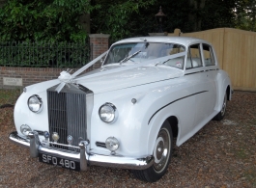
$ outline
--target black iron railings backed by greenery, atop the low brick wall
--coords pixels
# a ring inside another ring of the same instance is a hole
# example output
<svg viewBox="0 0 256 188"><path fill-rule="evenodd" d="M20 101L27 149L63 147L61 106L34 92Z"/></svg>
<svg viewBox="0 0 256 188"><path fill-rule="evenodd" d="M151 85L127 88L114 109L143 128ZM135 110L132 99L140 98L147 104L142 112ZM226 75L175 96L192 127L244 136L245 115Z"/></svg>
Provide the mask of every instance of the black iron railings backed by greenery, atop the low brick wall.
<svg viewBox="0 0 256 188"><path fill-rule="evenodd" d="M82 67L89 60L87 42L0 42L0 66Z"/></svg>

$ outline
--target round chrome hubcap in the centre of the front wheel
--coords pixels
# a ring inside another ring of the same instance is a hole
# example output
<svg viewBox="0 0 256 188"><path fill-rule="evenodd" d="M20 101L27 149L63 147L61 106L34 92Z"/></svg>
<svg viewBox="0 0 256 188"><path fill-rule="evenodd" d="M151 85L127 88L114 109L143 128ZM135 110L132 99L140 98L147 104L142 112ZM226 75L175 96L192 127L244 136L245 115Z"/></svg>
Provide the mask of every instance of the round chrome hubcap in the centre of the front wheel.
<svg viewBox="0 0 256 188"><path fill-rule="evenodd" d="M158 173L160 173L166 166L170 154L170 144L170 135L168 131L165 128L161 129L158 133L154 148L154 168Z"/></svg>

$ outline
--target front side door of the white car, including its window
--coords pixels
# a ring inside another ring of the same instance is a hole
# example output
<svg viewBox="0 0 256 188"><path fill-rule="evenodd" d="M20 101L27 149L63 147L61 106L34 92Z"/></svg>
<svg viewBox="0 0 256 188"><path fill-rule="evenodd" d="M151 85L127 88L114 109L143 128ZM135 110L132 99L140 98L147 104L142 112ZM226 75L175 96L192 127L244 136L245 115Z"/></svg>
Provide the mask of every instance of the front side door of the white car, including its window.
<svg viewBox="0 0 256 188"><path fill-rule="evenodd" d="M194 129L196 126L202 126L214 108L214 96L213 91L215 87L209 76L209 71L206 71L206 67L203 64L202 56L202 44L196 43L188 47L185 76L190 81L192 80L195 91L195 119L193 122Z"/></svg>

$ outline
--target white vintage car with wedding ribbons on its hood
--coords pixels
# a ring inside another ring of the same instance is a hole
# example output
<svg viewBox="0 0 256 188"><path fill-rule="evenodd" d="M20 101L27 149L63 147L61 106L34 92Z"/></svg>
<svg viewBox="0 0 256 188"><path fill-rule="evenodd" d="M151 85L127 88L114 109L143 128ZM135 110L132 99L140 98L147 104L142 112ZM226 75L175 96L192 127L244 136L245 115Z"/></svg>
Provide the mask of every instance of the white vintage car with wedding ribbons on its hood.
<svg viewBox="0 0 256 188"><path fill-rule="evenodd" d="M9 138L43 163L129 169L153 182L168 168L173 137L179 147L208 121L222 120L231 96L209 42L120 40L76 72L24 88Z"/></svg>

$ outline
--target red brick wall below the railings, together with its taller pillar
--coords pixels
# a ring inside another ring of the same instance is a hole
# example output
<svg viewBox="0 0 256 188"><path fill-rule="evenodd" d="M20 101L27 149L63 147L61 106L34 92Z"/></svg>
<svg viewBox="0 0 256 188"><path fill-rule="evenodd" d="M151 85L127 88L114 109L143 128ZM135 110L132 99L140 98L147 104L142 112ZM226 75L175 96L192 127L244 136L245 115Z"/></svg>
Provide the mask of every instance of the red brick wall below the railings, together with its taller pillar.
<svg viewBox="0 0 256 188"><path fill-rule="evenodd" d="M90 35L92 45L92 58L97 58L101 53L108 49L109 35L93 34ZM90 67L87 71L100 67L100 64ZM72 68L72 72L78 68ZM23 88L35 83L58 78L60 72L65 68L55 67L0 67L0 89ZM22 86L7 86L3 83L3 77L22 78Z"/></svg>

